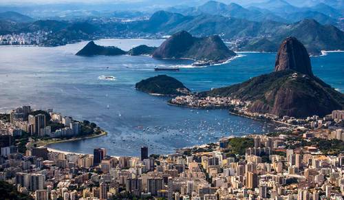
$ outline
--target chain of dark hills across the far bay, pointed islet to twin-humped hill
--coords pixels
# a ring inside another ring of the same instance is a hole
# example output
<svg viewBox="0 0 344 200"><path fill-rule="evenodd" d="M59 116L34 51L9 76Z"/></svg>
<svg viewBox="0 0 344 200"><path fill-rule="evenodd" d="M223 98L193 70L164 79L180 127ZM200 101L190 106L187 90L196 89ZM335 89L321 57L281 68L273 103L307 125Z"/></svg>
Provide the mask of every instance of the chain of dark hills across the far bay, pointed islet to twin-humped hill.
<svg viewBox="0 0 344 200"><path fill-rule="evenodd" d="M76 56L118 56L123 54L131 56L150 55L158 59L191 59L195 60L195 63L193 63L195 66L224 63L237 55L228 49L217 35L197 38L189 34L189 32L181 31L173 34L160 47L139 45L128 52L118 47L96 45L94 41L90 41L76 53Z"/></svg>

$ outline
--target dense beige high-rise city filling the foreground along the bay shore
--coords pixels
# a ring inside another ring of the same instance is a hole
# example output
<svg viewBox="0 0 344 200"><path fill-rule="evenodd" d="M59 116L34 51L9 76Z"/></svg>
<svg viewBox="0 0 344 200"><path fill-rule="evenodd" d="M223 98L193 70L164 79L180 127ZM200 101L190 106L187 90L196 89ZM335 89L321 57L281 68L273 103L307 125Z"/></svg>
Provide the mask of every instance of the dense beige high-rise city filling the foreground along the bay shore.
<svg viewBox="0 0 344 200"><path fill-rule="evenodd" d="M93 155L37 146L39 139L78 137L89 123L52 110L24 106L1 117L0 179L27 198L315 200L344 194L344 111L312 116L290 131L222 137L171 155L149 155L143 146L140 157L110 156L101 146Z"/></svg>

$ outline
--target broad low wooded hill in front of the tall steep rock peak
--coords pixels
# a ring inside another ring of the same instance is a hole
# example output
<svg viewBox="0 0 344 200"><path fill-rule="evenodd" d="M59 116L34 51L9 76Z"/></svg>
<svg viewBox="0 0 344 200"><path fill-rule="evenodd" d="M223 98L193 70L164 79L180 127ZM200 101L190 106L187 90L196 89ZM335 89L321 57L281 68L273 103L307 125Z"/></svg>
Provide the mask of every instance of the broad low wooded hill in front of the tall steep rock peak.
<svg viewBox="0 0 344 200"><path fill-rule="evenodd" d="M292 70L276 71L201 94L250 100L250 111L279 116L324 116L332 110L344 108L343 93L332 89L319 78L292 78L294 73Z"/></svg>

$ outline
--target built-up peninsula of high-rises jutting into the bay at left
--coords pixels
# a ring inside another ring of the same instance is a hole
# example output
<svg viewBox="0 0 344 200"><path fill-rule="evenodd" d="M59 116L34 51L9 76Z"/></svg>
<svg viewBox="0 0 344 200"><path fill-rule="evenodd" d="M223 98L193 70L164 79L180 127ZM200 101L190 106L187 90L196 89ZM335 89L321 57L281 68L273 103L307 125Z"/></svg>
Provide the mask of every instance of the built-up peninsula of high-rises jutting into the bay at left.
<svg viewBox="0 0 344 200"><path fill-rule="evenodd" d="M94 122L77 121L56 113L52 109L33 110L23 106L0 114L0 129L12 130L12 139L17 141L18 151L25 153L36 146L83 140L106 135Z"/></svg>

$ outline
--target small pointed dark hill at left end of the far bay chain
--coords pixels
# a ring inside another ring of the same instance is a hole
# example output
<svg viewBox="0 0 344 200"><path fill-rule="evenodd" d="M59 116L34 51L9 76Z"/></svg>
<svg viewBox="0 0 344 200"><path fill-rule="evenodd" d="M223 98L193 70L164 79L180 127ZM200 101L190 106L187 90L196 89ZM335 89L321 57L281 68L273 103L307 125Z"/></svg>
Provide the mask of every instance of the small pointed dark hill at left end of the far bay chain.
<svg viewBox="0 0 344 200"><path fill-rule="evenodd" d="M127 54L127 52L117 47L103 47L96 45L94 41L90 41L85 47L83 47L83 49L76 53L76 56L116 56L123 54Z"/></svg>

